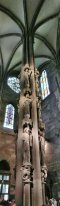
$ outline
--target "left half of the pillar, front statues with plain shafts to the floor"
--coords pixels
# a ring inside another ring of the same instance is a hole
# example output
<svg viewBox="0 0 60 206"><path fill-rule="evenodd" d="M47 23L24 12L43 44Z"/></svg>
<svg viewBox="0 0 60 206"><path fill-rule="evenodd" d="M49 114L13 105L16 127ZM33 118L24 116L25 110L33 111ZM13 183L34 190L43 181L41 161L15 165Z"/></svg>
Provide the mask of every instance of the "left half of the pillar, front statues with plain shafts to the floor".
<svg viewBox="0 0 60 206"><path fill-rule="evenodd" d="M20 74L21 95L19 100L19 130L17 139L16 203L17 206L30 206L31 168L30 144L32 142L31 121L31 70L29 65L22 67Z"/></svg>

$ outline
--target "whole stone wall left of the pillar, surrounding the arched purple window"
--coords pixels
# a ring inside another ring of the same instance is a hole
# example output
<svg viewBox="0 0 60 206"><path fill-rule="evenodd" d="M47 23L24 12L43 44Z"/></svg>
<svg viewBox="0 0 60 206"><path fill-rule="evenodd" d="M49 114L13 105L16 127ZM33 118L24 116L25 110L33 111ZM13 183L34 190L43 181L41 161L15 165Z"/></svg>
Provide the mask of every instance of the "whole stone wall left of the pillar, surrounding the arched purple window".
<svg viewBox="0 0 60 206"><path fill-rule="evenodd" d="M5 111L7 104L12 104L16 110L18 95L9 88L5 82L5 87L0 101L0 161L6 160L10 166L10 196L15 194L15 166L16 166L16 134L13 130L4 128ZM16 132L16 113L14 130Z"/></svg>

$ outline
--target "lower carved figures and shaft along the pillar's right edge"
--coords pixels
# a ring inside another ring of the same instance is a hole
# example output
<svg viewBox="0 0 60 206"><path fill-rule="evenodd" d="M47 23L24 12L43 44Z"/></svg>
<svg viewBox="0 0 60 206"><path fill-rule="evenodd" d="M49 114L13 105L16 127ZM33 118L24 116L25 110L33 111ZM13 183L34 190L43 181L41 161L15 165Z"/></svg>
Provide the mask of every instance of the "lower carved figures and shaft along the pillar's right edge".
<svg viewBox="0 0 60 206"><path fill-rule="evenodd" d="M45 125L40 118L39 122L39 130L38 130L38 137L39 137L39 149L40 149L40 165L41 165L41 181L42 181L42 196L43 196L43 205L46 204L45 202L45 184L47 178L47 167L45 164Z"/></svg>

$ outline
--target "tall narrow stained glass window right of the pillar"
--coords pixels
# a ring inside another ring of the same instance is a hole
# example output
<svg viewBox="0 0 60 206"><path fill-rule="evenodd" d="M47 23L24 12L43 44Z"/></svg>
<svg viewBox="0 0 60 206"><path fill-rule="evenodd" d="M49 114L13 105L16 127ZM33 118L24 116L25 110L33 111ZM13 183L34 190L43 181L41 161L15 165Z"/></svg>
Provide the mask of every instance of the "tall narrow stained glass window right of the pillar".
<svg viewBox="0 0 60 206"><path fill-rule="evenodd" d="M41 84L42 99L45 99L50 94L46 70L42 72L42 75L40 77L40 84Z"/></svg>

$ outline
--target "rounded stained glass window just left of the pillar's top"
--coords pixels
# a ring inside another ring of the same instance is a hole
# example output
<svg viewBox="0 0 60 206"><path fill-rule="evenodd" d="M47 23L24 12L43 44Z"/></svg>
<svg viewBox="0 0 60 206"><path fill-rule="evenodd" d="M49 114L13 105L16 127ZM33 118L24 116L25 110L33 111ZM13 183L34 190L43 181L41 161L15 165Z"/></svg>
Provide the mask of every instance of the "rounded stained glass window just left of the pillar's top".
<svg viewBox="0 0 60 206"><path fill-rule="evenodd" d="M9 77L7 80L8 86L16 93L20 92L20 83L19 79L16 77Z"/></svg>

